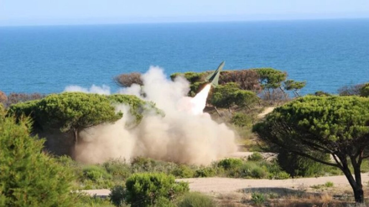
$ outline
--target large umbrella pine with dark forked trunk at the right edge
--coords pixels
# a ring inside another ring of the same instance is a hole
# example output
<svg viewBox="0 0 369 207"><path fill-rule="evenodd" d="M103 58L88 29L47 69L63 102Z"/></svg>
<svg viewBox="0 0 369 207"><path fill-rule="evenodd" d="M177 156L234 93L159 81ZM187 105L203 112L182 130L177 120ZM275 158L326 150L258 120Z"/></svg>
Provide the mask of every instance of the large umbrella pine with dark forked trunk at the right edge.
<svg viewBox="0 0 369 207"><path fill-rule="evenodd" d="M363 202L360 167L369 146L369 99L306 96L273 110L254 126L258 136L274 144L344 172L355 200ZM330 154L335 162L313 156ZM349 169L354 168L355 178Z"/></svg>

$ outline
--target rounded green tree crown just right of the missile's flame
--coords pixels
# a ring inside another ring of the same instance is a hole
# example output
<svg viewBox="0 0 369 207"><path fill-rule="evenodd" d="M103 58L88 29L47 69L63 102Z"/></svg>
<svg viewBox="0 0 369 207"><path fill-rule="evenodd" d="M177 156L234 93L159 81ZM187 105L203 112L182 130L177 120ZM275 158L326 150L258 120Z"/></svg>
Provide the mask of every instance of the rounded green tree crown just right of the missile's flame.
<svg viewBox="0 0 369 207"><path fill-rule="evenodd" d="M241 90L236 83L227 83L214 88L210 102L219 108L230 108L234 105L251 107L258 99L254 92Z"/></svg>

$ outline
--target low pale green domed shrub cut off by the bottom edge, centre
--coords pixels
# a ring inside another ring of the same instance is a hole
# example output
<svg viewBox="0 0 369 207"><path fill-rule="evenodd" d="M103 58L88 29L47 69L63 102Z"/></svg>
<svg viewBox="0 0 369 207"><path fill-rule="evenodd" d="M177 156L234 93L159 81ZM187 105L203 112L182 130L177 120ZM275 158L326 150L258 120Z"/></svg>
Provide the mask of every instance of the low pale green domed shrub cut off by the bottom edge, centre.
<svg viewBox="0 0 369 207"><path fill-rule="evenodd" d="M177 207L214 207L214 200L207 195L192 192L185 194L177 203Z"/></svg>

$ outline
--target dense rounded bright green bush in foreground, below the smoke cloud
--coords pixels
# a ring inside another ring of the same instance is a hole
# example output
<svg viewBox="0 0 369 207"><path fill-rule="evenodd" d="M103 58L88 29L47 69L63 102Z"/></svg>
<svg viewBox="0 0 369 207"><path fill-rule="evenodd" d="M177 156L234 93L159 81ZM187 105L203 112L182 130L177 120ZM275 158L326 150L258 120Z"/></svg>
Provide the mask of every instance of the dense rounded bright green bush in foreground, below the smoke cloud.
<svg viewBox="0 0 369 207"><path fill-rule="evenodd" d="M133 174L125 185L127 187L125 199L132 207L152 206L158 199L173 200L189 191L188 183L176 183L174 176L164 173Z"/></svg>

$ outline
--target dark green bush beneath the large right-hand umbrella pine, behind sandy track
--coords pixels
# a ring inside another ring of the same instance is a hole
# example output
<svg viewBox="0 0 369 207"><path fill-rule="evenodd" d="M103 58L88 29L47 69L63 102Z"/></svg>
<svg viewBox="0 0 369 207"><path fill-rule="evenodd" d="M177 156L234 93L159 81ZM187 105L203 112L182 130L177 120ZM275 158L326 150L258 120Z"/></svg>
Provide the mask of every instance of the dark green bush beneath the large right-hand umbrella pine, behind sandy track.
<svg viewBox="0 0 369 207"><path fill-rule="evenodd" d="M313 156L327 162L330 159L327 154L314 153ZM293 154L286 150L280 150L278 152L277 162L284 171L292 176L292 178L296 176L323 176L327 168L319 162Z"/></svg>

